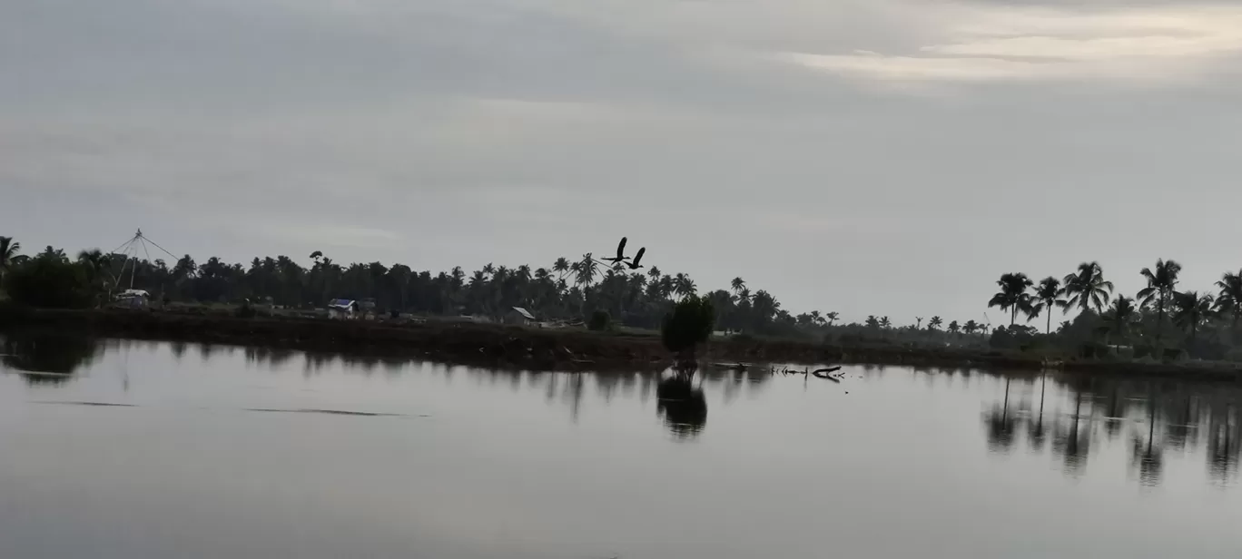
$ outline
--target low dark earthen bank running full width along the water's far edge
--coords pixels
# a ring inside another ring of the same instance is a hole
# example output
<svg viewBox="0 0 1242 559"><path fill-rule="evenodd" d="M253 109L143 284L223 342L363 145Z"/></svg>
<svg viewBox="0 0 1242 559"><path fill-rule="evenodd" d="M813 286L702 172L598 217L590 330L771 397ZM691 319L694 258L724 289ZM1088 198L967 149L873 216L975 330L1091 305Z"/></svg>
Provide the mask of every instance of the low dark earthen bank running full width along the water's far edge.
<svg viewBox="0 0 1242 559"><path fill-rule="evenodd" d="M194 342L304 352L427 358L532 370L666 369L672 355L658 335L540 329L460 322L240 318L222 313L156 311L0 311L0 333L55 329L63 334ZM873 364L1041 370L1038 355L974 348L841 347L784 339L712 340L704 363ZM1242 364L1066 360L1066 373L1242 380Z"/></svg>

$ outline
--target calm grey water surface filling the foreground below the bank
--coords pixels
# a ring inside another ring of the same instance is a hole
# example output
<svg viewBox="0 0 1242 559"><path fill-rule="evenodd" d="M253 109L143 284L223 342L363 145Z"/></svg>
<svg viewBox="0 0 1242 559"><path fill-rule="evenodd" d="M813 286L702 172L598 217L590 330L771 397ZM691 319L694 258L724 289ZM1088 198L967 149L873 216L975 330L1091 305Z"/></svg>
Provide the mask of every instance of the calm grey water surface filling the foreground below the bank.
<svg viewBox="0 0 1242 559"><path fill-rule="evenodd" d="M858 366L669 406L658 375L19 342L4 558L1242 554L1231 384Z"/></svg>

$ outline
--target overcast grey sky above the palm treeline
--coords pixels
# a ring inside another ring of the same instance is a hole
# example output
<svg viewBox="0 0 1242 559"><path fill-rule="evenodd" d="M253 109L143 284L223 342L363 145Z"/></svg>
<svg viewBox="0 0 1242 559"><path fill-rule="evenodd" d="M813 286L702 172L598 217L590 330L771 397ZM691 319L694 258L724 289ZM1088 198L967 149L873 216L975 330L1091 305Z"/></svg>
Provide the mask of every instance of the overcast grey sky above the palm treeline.
<svg viewBox="0 0 1242 559"><path fill-rule="evenodd" d="M469 271L628 236L899 324L982 320L1005 272L1242 268L1235 1L9 0L0 76L26 252Z"/></svg>

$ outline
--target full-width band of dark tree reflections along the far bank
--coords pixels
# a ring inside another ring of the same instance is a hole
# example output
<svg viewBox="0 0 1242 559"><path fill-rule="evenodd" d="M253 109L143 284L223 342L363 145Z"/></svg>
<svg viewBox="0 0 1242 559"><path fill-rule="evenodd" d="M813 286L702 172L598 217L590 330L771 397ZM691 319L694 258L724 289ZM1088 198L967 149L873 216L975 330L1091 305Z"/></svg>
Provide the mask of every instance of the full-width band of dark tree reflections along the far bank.
<svg viewBox="0 0 1242 559"><path fill-rule="evenodd" d="M1088 467L1110 470L1103 475L1125 476L1145 486L1166 481L1171 462L1194 460L1216 484L1232 484L1238 477L1242 457L1242 416L1238 402L1242 386L1227 383L1186 383L1160 379L1126 379L1122 376L1087 376L1072 374L999 374L970 369L914 369L863 365L853 369L845 385L816 384L815 379L775 379L768 368L750 371L703 369L692 378L663 371L626 373L551 373L522 369L482 369L443 363L426 363L388 355L340 355L291 352L271 348L236 348L210 344L153 344L147 342L97 342L63 334L10 334L2 339L4 368L29 385L81 389L86 381L71 383L82 376L94 376L83 370L93 366L107 352L111 358L124 359L127 365L107 368L108 374L123 375L129 389L129 370L135 379L152 374L137 358L159 352L181 363L190 354L186 366L211 363L215 368L243 358L247 374L289 371L306 381L335 381L342 376L388 378L407 381L412 376L431 375L445 384L466 383L467 386L497 386L513 395L533 394L554 406L573 425L590 417L594 409L630 409L651 419L653 412L660 432L673 440L697 440L707 427L708 409L717 417L728 416L730 409L753 401L796 399L814 401L816 394L838 394L862 386L904 386L900 394L869 398L909 398L902 406L874 406L894 410L888 415L858 411L871 425L859 419L858 429L869 429L876 436L899 436L892 431L903 421L928 422L940 416L909 416L919 399L939 393L963 400L966 405L981 404L980 416L966 421L965 431L944 427L935 436L959 436L966 432L972 445L986 447L1000 460L1045 457L1054 471L1082 478ZM129 359L134 359L129 363ZM417 369L417 371L415 371ZM98 370L98 369L94 369ZM345 381L348 386L349 381ZM807 384L809 383L809 384ZM72 385L72 388L70 388ZM116 386L116 385L112 385ZM768 391L775 394L766 394ZM324 390L323 398L329 390ZM89 395L89 394L87 394ZM763 398L760 398L763 396ZM858 396L847 396L858 399ZM87 400L91 398L83 398ZM710 404L709 404L709 400ZM981 400L981 401L980 401ZM840 405L840 404L833 404ZM904 406L904 407L903 407ZM260 406L265 407L265 406ZM936 407L925 414L940 414ZM812 411L805 411L812 414ZM771 416L759 417L766 420ZM801 420L799 417L796 420ZM645 427L646 429L646 427ZM886 429L889 429L886 431ZM836 432L836 431L830 431ZM723 432L729 436L729 432ZM713 434L713 440L717 439ZM975 442L975 440L979 440ZM1113 460L1099 460L1112 456Z"/></svg>

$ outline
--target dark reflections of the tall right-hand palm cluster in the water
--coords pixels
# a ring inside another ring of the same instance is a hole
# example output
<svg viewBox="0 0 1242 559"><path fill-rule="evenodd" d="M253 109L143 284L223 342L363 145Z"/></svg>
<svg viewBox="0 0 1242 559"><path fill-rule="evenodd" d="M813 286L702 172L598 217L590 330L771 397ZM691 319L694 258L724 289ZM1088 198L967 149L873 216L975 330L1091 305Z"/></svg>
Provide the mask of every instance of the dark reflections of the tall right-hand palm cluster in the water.
<svg viewBox="0 0 1242 559"><path fill-rule="evenodd" d="M1099 445L1126 440L1129 463L1139 483L1158 486L1164 481L1171 453L1184 457L1206 446L1203 460L1213 482L1236 481L1242 458L1242 429L1238 401L1242 390L1225 383L1174 383L1160 379L1124 379L1068 374L1045 374L1038 379L1001 375L1004 391L987 405L982 426L989 452L1009 453L1015 447L1020 424L1026 424L1026 447L1031 453L1051 452L1067 476L1082 476ZM1012 384L1037 394L1032 411L1012 411ZM1049 394L1051 393L1051 394ZM1048 400L1064 404L1066 411L1051 415ZM1068 401L1057 401L1066 399ZM1052 445L1047 446L1047 424Z"/></svg>

